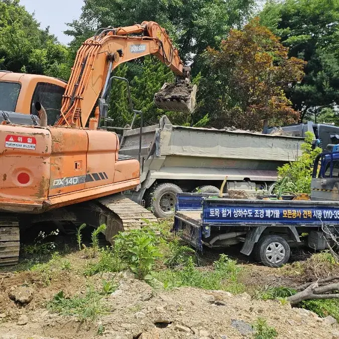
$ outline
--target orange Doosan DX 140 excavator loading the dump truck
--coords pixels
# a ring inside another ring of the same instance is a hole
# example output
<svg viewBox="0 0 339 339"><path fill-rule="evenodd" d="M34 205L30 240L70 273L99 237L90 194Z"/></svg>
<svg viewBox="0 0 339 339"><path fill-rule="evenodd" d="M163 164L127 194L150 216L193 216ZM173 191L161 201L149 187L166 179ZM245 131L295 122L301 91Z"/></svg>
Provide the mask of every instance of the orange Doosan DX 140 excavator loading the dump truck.
<svg viewBox="0 0 339 339"><path fill-rule="evenodd" d="M0 71L0 265L17 263L20 228L35 222L105 223L110 241L145 219L156 220L116 194L138 189L140 163L120 155L118 135L106 124L101 127L109 121L107 96L112 79L118 78L112 71L150 54L168 66L178 87L186 86L189 93L178 96L176 86L165 84L162 92L171 89L166 97L157 96L156 104L192 111L196 86L189 84L190 69L155 22L98 30L78 50L68 83ZM142 127L142 112L134 110L137 115Z"/></svg>

